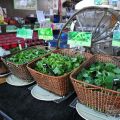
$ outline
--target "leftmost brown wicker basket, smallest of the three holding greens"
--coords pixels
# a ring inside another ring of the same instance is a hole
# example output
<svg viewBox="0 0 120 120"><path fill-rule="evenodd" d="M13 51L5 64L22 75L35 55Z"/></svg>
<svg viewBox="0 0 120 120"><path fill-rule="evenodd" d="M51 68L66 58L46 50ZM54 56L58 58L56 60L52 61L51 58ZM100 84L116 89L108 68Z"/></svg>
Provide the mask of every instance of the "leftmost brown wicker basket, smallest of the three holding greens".
<svg viewBox="0 0 120 120"><path fill-rule="evenodd" d="M40 49L45 49L44 46L33 46L33 47L30 47L30 48L27 48L27 49L24 49L22 51L25 51L25 50L29 50L29 49L32 49L32 48L40 48ZM22 52L21 51L21 52ZM15 55L19 52L16 52L16 53L13 53L13 54L10 54L10 55L7 55L7 56L4 56L2 58L2 61L8 66L9 70L11 71L11 73L13 75L15 75L16 77L22 79L22 80L26 80L28 82L31 82L33 80L33 77L31 76L31 74L29 73L26 65L27 63L25 64L20 64L20 65L17 65L15 63L12 63L12 62L9 62L9 61L6 61L6 58L9 58L11 57L12 55ZM44 55L43 55L44 56ZM41 57L43 57L41 56ZM40 58L41 58L40 57ZM37 59L37 58L36 58Z"/></svg>

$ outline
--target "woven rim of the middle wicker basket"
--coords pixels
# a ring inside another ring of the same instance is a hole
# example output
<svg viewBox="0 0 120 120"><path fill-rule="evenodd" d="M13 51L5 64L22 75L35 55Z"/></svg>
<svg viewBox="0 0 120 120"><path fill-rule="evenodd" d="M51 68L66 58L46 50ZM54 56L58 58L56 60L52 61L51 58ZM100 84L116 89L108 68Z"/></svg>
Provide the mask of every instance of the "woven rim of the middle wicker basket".
<svg viewBox="0 0 120 120"><path fill-rule="evenodd" d="M60 51L62 51L62 50L66 50L66 48L65 49L58 49L59 51L57 51L57 52L60 52ZM67 49L67 50L69 50L69 49ZM51 53L54 53L54 51L53 52L51 52ZM56 51L55 51L55 53L56 53ZM86 54L87 54L87 52L85 52ZM90 53L89 53L90 54ZM49 56L50 54L47 54L46 56ZM92 56L92 54L90 54L91 56ZM43 57L46 57L46 56L43 56ZM43 58L42 57L42 58ZM52 75L47 75L47 74L44 74L44 73L41 73L41 72L39 72L39 71L37 71L37 70L35 70L35 69L33 69L33 68L31 68L30 67L30 65L33 63L33 62L37 62L39 59L41 59L41 58L38 58L38 59L36 59L36 60L33 60L33 61L31 61L30 63L28 63L27 64L27 68L29 69L29 70L31 70L31 71L34 71L34 72L36 72L37 74L42 74L42 75L44 75L44 76L49 76L49 77L52 77L52 78L62 78L62 77L65 77L65 76L68 76L69 74L71 74L73 71L75 71L76 69L78 69L79 67L76 67L76 68L74 68L73 70L71 70L70 72L68 72L68 73L64 73L63 75L60 75L60 76L52 76ZM82 62L80 65L82 65L84 62Z"/></svg>

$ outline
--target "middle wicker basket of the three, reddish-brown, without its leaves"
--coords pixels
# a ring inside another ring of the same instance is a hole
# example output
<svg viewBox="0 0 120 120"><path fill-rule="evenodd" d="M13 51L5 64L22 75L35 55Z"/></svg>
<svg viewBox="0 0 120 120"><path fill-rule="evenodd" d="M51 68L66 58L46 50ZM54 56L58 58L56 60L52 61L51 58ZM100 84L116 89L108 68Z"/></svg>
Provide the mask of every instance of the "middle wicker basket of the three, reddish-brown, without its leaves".
<svg viewBox="0 0 120 120"><path fill-rule="evenodd" d="M80 54L78 52L73 51L72 49L62 49L62 50L58 50L56 53L62 55L68 55L68 56L75 56ZM92 55L89 53L85 53L84 56L88 59ZM57 76L57 77L40 73L33 69L37 61L38 60L35 60L29 63L27 65L27 68L39 86L60 96L64 96L73 90L72 84L69 79L70 73L66 73L62 76Z"/></svg>

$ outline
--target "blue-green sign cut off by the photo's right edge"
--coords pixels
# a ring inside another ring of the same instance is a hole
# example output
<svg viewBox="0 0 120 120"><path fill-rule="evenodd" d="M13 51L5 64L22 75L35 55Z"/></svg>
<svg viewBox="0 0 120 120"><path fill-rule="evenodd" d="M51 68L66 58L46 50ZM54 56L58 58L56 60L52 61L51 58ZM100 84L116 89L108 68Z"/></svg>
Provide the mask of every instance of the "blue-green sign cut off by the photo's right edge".
<svg viewBox="0 0 120 120"><path fill-rule="evenodd" d="M113 39L112 39L112 46L120 47L120 30L114 30Z"/></svg>

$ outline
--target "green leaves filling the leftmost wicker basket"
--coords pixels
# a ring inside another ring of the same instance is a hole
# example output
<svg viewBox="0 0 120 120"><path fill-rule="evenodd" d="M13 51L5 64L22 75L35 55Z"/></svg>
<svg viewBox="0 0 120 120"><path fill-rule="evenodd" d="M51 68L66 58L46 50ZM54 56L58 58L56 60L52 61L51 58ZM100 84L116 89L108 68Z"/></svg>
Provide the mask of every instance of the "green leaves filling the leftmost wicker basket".
<svg viewBox="0 0 120 120"><path fill-rule="evenodd" d="M15 64L25 64L37 57L44 55L45 53L47 53L46 50L40 48L32 48L12 55L6 60Z"/></svg>

